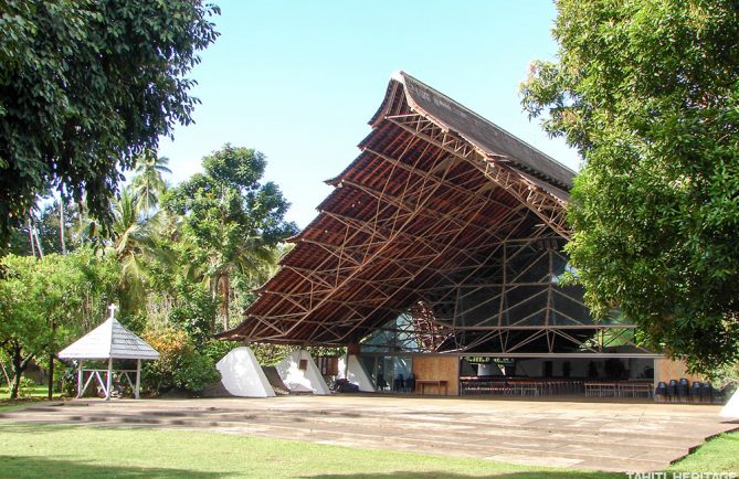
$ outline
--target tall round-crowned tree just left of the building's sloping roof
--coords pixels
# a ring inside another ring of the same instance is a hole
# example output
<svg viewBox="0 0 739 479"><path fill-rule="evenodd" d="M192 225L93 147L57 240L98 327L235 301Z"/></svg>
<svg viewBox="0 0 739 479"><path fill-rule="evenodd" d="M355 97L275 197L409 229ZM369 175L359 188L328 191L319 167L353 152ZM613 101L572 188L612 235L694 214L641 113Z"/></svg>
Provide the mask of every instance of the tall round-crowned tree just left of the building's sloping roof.
<svg viewBox="0 0 739 479"><path fill-rule="evenodd" d="M183 219L183 235L192 243L193 263L202 264L219 316L229 327L234 275L256 268L271 248L295 234L284 221L289 204L276 184L260 180L264 156L231 145L203 158L203 173L170 191L167 206Z"/></svg>

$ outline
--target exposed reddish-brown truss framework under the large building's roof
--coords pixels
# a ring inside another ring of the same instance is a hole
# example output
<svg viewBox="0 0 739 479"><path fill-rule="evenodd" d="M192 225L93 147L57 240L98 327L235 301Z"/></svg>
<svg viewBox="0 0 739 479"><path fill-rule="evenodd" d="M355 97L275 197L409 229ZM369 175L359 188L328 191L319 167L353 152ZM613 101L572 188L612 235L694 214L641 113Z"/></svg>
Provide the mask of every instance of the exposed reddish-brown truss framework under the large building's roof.
<svg viewBox="0 0 739 479"><path fill-rule="evenodd" d="M543 278L528 285L502 273L514 245L560 245L569 237L562 180L524 170L510 156L492 155L465 139L464 131L420 108L397 79L372 127L357 159L328 180L334 191L318 206L318 216L291 240L295 247L258 289L244 322L219 337L347 344L372 331L391 333L395 319L410 315L403 328L413 332L401 337L407 347L423 350L590 344L600 326L589 316L569 318L567 324L549 320L557 300L581 304L581 298L559 299L563 294L551 284L545 287ZM542 171L561 178L556 164ZM462 308L465 294L469 288L492 291L493 284L499 291L477 309L504 305L500 298L537 285L546 289L537 295L548 295L549 306L504 321L522 311L508 304L469 323Z"/></svg>

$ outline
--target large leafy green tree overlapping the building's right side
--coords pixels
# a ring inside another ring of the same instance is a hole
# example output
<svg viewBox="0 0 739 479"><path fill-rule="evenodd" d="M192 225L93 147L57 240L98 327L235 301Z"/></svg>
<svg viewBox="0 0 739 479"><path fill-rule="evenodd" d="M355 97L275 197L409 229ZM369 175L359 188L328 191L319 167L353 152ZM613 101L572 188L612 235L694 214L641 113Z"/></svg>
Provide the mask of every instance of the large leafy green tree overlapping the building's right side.
<svg viewBox="0 0 739 479"><path fill-rule="evenodd" d="M585 301L708 371L739 359L739 4L561 0L522 104L579 149L567 249Z"/></svg>

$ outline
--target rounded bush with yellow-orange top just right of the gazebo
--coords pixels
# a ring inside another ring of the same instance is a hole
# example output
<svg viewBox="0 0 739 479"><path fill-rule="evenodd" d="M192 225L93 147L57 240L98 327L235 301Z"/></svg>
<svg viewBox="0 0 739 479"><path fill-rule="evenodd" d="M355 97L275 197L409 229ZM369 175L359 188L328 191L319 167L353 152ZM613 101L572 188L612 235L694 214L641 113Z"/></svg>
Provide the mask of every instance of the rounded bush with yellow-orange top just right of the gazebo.
<svg viewBox="0 0 739 479"><path fill-rule="evenodd" d="M184 331L162 326L144 332L144 340L159 351L159 360L142 368L142 386L156 394L179 388L200 393L208 383L218 381L220 374L214 362L194 348Z"/></svg>

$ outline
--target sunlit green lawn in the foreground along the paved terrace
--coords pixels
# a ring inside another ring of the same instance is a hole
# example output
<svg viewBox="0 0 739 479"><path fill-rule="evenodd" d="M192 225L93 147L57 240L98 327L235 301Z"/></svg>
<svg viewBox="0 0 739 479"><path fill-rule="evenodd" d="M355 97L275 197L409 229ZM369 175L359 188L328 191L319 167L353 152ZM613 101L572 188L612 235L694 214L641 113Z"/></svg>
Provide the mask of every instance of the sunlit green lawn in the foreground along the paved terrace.
<svg viewBox="0 0 739 479"><path fill-rule="evenodd" d="M1 477L28 478L625 477L215 433L19 424L0 425L0 464ZM739 470L739 433L707 443L671 470Z"/></svg>

